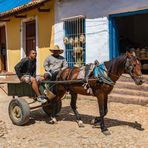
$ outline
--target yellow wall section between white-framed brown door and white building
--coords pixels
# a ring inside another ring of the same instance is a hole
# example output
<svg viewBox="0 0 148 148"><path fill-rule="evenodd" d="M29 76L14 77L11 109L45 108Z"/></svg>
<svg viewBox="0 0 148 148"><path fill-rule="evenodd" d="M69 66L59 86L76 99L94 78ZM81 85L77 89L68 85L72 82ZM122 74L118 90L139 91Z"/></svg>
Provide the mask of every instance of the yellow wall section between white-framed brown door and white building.
<svg viewBox="0 0 148 148"><path fill-rule="evenodd" d="M44 72L43 63L45 58L50 54L49 47L54 44L54 4L50 7L50 13L38 17L38 34L39 34L39 65L40 72ZM49 19L47 19L49 18Z"/></svg>

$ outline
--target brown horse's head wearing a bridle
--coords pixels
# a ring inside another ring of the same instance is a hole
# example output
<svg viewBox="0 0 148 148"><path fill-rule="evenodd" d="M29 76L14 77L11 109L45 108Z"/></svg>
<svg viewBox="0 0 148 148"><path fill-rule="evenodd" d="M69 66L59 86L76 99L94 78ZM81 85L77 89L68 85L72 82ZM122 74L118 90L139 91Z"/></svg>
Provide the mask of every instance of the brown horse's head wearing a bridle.
<svg viewBox="0 0 148 148"><path fill-rule="evenodd" d="M137 85L143 84L141 62L136 56L127 56L125 69Z"/></svg>

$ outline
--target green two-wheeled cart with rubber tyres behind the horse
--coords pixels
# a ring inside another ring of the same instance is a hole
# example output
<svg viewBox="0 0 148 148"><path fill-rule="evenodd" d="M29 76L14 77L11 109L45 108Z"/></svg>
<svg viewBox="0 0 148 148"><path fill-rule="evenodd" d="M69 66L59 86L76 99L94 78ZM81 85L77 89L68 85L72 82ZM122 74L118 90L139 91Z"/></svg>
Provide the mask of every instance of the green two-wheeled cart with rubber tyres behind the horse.
<svg viewBox="0 0 148 148"><path fill-rule="evenodd" d="M61 100L51 99L44 104L39 104L36 100L36 94L32 89L32 86L27 83L22 83L19 81L15 74L3 74L0 75L0 84L6 84L5 89L0 86L0 88L5 91L8 96L12 96L9 102L8 112L9 117L13 124L21 126L29 122L31 110L41 107L47 115L51 115L54 111L55 114L59 113L61 110L62 102ZM39 85L39 89L44 93L47 82L42 82ZM28 99L26 99L26 97ZM29 100L31 102L28 102ZM54 103L54 108L53 108Z"/></svg>

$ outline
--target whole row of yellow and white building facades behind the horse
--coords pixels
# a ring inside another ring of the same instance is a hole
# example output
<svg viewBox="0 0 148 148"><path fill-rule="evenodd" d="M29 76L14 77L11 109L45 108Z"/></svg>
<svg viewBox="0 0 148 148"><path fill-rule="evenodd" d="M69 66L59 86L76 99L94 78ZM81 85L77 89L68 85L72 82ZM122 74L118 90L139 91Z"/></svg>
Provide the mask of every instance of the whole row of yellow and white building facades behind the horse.
<svg viewBox="0 0 148 148"><path fill-rule="evenodd" d="M18 6L11 10L6 9L11 5L5 10L0 7L1 70L14 71L14 65L33 48L38 53L37 73L43 73L49 47L58 44L70 67L110 60L132 46L148 73L147 0L22 0L14 4Z"/></svg>

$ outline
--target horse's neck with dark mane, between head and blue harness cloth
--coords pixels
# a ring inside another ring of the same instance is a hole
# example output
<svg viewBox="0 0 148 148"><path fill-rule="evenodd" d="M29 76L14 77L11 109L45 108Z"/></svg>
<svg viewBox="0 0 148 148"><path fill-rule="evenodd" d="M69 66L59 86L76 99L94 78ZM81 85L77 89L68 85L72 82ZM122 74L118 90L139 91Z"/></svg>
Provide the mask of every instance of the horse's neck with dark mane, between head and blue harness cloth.
<svg viewBox="0 0 148 148"><path fill-rule="evenodd" d="M104 62L109 74L111 73L119 76L124 71L126 59L127 56L124 54L110 61Z"/></svg>

